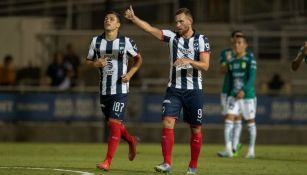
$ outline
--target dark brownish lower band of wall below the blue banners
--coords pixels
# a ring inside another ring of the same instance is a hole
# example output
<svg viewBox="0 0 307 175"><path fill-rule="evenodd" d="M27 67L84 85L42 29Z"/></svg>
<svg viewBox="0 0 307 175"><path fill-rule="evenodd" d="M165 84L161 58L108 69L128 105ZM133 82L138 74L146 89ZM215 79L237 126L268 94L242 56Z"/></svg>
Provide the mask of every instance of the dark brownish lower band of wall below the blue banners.
<svg viewBox="0 0 307 175"><path fill-rule="evenodd" d="M160 123L128 123L127 129L140 137L141 143L161 141ZM16 122L0 123L1 142L103 142L102 122ZM307 144L307 127L304 125L257 125L257 144ZM223 144L224 126L203 126L204 143ZM190 129L186 124L175 127L175 142L189 143ZM248 144L248 131L242 132L243 144Z"/></svg>

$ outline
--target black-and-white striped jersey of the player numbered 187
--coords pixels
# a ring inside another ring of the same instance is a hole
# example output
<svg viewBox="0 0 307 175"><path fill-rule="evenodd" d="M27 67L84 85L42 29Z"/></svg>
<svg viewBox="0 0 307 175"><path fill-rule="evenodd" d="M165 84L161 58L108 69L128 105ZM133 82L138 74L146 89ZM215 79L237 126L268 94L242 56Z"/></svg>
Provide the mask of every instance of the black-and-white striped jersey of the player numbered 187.
<svg viewBox="0 0 307 175"><path fill-rule="evenodd" d="M100 72L100 93L102 95L126 94L129 92L129 82L121 81L121 76L127 73L128 58L137 56L137 47L134 42L124 37L125 47L119 48L120 38L113 41L107 41L104 37L101 39L99 50L96 49L98 36L92 39L92 43L87 56L88 60L94 61L98 58L97 53L101 57L108 57L108 64ZM123 51L122 63L120 61L119 52ZM121 72L121 73L120 73ZM121 82L121 85L118 82Z"/></svg>

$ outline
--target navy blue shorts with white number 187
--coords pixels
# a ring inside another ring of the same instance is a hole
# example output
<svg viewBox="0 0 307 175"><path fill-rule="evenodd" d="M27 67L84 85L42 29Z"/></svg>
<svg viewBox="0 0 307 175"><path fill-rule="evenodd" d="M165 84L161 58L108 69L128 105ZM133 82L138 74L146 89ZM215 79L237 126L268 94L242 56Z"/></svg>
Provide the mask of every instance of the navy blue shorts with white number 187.
<svg viewBox="0 0 307 175"><path fill-rule="evenodd" d="M109 118L124 119L127 98L127 94L100 95L100 106L106 121Z"/></svg>

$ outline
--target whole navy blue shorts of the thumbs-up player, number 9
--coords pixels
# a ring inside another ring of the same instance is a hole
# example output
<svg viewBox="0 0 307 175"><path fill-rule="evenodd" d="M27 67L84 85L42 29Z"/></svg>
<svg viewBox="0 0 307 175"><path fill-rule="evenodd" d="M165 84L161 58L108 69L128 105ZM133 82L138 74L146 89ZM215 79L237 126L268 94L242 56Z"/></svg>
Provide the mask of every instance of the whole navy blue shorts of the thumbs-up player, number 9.
<svg viewBox="0 0 307 175"><path fill-rule="evenodd" d="M183 120L192 125L201 125L203 120L204 94L202 90L167 88L162 104L162 117L177 119L183 110Z"/></svg>

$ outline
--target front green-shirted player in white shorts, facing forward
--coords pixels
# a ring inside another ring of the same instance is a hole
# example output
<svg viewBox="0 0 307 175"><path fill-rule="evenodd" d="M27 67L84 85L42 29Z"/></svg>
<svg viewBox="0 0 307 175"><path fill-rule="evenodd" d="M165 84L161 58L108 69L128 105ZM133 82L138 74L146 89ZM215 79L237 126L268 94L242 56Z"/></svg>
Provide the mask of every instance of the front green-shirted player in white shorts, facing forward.
<svg viewBox="0 0 307 175"><path fill-rule="evenodd" d="M230 91L227 98L226 121L234 121L235 117L242 113L247 121L249 131L249 148L246 158L255 157L256 141L256 60L246 53L247 40L237 36L234 41L235 57L228 63ZM230 133L225 134L226 151L228 157L233 156Z"/></svg>

